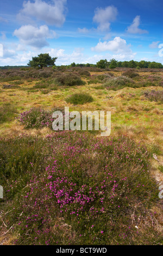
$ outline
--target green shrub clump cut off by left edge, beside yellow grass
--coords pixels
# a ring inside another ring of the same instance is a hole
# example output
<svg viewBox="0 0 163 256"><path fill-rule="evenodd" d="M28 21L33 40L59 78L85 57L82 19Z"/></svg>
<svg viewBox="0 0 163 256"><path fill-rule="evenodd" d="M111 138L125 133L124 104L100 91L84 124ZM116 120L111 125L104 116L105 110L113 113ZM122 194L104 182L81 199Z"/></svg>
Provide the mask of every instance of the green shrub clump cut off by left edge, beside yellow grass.
<svg viewBox="0 0 163 256"><path fill-rule="evenodd" d="M10 121L14 117L14 113L17 113L17 109L11 103L5 103L0 106L0 123Z"/></svg>

